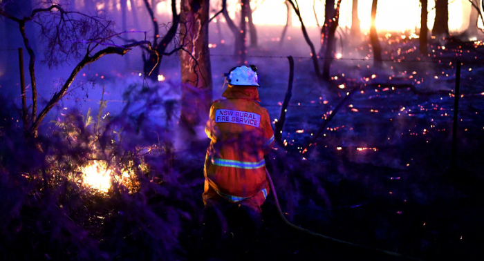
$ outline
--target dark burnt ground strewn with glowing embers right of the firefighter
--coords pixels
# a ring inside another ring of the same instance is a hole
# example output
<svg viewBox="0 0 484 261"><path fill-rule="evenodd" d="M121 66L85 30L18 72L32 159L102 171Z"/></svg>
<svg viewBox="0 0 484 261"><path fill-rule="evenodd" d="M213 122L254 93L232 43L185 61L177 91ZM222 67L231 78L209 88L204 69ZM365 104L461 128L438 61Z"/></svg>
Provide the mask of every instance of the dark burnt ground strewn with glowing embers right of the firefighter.
<svg viewBox="0 0 484 261"><path fill-rule="evenodd" d="M431 44L431 53L438 50L437 62L416 62L418 50L412 46L417 41L394 43L395 50L407 50L404 54L395 52L394 59L407 61L385 61L383 68L364 59L335 60L337 73L332 76L337 79L331 86L314 84L317 79L310 75L310 62L299 59L283 127L287 143L268 156L268 170L289 220L369 248L322 240L290 229L279 220L270 196L263 205L264 226L254 249L241 255L243 247L234 240L237 235L232 235L223 242L218 258L399 259L371 248L422 260L484 257L480 247L484 242L484 162L479 156L484 149L484 68L479 65L484 55L475 51L472 43L465 46L449 41L445 44L447 51L438 43ZM456 158L452 159L452 93L456 80L456 61L452 59L460 50L464 53L458 56L463 62L461 97ZM263 61L259 61L260 68L269 66L260 64ZM280 64L272 70L284 70ZM362 91L337 112L317 144L308 146L322 117L327 117L346 92L360 84ZM286 86L277 78L259 91L261 105L268 108L272 119L280 113ZM336 91L328 92L328 88ZM308 152L303 154L305 148ZM202 148L199 155L203 153ZM450 168L452 160L456 161L455 169ZM199 177L203 158L194 160L192 166L199 167L188 173ZM202 187L195 192L194 197L199 197ZM189 258L196 260L196 251L185 250Z"/></svg>

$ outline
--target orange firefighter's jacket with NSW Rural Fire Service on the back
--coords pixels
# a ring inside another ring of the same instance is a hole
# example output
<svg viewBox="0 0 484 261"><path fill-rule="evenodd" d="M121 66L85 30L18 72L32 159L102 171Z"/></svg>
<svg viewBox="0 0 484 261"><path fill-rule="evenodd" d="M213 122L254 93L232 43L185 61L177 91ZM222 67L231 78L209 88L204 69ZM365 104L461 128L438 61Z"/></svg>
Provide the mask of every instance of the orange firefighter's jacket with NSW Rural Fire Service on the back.
<svg viewBox="0 0 484 261"><path fill-rule="evenodd" d="M266 108L253 86L231 86L210 108L205 133L212 139L205 158L205 178L230 202L266 191L267 154L274 133ZM267 193L264 193L267 196Z"/></svg>

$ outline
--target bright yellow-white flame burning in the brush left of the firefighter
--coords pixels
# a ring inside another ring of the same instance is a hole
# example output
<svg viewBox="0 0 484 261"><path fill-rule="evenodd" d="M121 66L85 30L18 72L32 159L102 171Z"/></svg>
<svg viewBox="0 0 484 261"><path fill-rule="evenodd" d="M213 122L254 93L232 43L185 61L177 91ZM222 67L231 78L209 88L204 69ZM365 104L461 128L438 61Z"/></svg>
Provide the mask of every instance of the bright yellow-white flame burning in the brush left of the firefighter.
<svg viewBox="0 0 484 261"><path fill-rule="evenodd" d="M106 168L106 163L100 160L93 160L91 164L80 169L82 172L83 184L91 189L106 193L111 188L111 169Z"/></svg>

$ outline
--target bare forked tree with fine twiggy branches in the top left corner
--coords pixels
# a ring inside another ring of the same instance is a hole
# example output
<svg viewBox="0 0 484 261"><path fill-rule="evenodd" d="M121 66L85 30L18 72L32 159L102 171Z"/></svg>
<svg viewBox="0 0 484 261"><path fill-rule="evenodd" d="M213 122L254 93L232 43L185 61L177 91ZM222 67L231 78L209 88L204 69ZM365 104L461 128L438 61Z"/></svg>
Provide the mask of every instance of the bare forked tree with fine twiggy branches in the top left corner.
<svg viewBox="0 0 484 261"><path fill-rule="evenodd" d="M124 55L135 46L147 46L151 49L149 41L133 41L127 45L119 46L113 38L120 35L113 31L113 23L103 15L90 16L81 12L64 10L57 4L51 4L47 8L37 8L27 17L18 18L4 10L4 4L0 4L0 15L19 24L19 31L29 55L29 74L32 89L32 113L28 133L26 135L37 136L37 130L48 112L66 95L68 88L73 84L77 74L86 65L97 61L104 55ZM62 84L46 106L37 115L37 84L35 80L36 55L30 40L25 32L28 22L37 23L40 27L41 37L45 41L45 62L48 66L57 66L66 61L77 60L75 68L71 71L68 79ZM79 61L80 60L80 61Z"/></svg>

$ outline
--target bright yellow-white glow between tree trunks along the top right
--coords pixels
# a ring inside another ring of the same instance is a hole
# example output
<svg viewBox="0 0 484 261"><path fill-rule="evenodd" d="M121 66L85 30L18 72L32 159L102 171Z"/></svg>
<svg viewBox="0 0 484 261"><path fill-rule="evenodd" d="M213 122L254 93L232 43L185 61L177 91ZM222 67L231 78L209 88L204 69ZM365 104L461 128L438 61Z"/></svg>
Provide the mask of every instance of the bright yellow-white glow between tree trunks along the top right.
<svg viewBox="0 0 484 261"><path fill-rule="evenodd" d="M231 2L231 1L229 1ZM341 14L339 17L339 26L351 26L351 0L343 0L341 4ZM234 4L232 3L232 6ZM317 26L313 11L313 1L299 1L299 8L304 19L305 26ZM230 8L229 8L230 10ZM324 3L315 1L315 10L317 10L317 20L319 25L324 21ZM415 30L420 28L420 1L406 0L380 0L378 1L376 17L376 26L378 30L401 31ZM435 10L434 1L429 1L429 17L427 26L434 26ZM465 1L451 1L449 3L449 29L460 30L463 26L463 12L469 12L470 4ZM231 14L236 11L235 8L230 10ZM286 6L274 1L264 1L254 12L253 19L256 24L268 25L285 25L286 24ZM371 0L361 0L358 3L358 16L362 30L369 30L371 24ZM293 11L292 25L300 26L299 19Z"/></svg>

